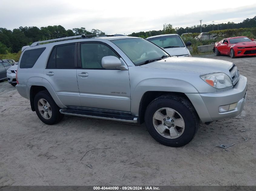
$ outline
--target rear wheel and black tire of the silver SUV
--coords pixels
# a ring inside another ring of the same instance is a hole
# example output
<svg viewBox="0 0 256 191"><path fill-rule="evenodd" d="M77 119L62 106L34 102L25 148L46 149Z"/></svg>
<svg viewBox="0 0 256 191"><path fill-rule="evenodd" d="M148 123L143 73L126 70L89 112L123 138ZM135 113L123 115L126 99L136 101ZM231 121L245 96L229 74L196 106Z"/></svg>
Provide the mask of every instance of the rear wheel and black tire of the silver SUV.
<svg viewBox="0 0 256 191"><path fill-rule="evenodd" d="M47 125L56 124L64 117L64 114L59 112L60 108L46 90L35 95L34 107L38 118Z"/></svg>

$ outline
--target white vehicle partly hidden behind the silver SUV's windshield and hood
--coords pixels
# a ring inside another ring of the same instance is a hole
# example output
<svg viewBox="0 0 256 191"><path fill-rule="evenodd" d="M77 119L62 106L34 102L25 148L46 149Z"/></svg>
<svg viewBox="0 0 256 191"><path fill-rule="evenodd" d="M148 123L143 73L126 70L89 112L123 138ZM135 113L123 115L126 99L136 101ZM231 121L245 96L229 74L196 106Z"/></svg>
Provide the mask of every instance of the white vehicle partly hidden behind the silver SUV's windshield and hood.
<svg viewBox="0 0 256 191"><path fill-rule="evenodd" d="M162 34L148 37L147 40L155 43L161 48L164 48L165 51L171 56L191 57L191 54L187 48L187 46L191 46L191 42L188 41L185 45L185 43L178 34Z"/></svg>

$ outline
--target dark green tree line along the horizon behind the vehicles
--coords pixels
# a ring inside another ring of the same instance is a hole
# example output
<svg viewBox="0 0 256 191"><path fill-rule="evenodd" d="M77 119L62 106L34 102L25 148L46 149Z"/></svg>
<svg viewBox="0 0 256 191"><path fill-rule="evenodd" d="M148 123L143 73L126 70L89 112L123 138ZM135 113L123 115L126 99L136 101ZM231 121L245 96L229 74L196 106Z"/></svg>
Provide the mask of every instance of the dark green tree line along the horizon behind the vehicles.
<svg viewBox="0 0 256 191"><path fill-rule="evenodd" d="M222 23L222 24L203 24L202 32L209 32L212 30L225 30L225 29L238 29L238 28L251 28L256 27L256 16L254 18L247 18L243 22L234 23ZM178 33L200 33L200 25L194 25L192 27L178 27L174 28L171 24L164 24L162 30L151 30L134 32L128 36L147 38L160 34ZM17 53L21 50L22 46L30 45L33 42L41 40L49 40L62 37L70 37L82 34L105 34L101 30L92 29L88 31L85 27L73 28L66 30L61 25L54 25L48 27L19 27L17 29L8 30L6 28L0 28L0 54Z"/></svg>

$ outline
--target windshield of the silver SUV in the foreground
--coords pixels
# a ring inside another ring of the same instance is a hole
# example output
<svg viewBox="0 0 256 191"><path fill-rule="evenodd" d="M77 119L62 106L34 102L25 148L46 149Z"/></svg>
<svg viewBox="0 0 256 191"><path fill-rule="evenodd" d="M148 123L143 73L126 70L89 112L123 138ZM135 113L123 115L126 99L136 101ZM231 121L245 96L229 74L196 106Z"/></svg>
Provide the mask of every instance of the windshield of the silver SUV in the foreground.
<svg viewBox="0 0 256 191"><path fill-rule="evenodd" d="M141 38L111 40L111 42L118 46L136 66L147 60L168 56L164 50Z"/></svg>

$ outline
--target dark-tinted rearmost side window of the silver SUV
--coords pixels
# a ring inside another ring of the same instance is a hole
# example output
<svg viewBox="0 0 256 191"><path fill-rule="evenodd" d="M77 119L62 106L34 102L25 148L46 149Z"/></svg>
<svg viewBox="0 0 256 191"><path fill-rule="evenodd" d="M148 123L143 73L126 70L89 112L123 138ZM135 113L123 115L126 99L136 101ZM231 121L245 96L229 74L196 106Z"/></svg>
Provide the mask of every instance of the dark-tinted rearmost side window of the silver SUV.
<svg viewBox="0 0 256 191"><path fill-rule="evenodd" d="M35 62L38 60L39 56L44 52L45 47L26 50L20 61L20 68L32 68Z"/></svg>

